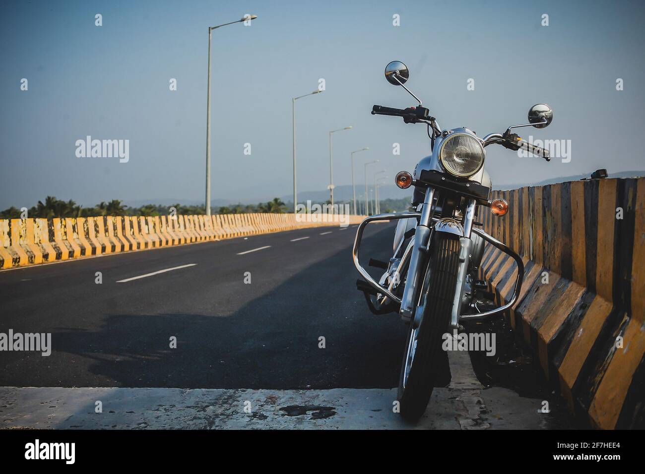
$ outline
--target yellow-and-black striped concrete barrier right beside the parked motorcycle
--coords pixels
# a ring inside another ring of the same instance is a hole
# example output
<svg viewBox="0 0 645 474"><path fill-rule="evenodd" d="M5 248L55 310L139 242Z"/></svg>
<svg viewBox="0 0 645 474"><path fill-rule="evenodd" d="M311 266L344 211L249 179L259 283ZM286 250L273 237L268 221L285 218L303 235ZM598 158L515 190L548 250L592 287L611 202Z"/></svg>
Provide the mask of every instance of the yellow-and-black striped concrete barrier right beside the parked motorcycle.
<svg viewBox="0 0 645 474"><path fill-rule="evenodd" d="M504 217L484 230L521 255L510 321L577 416L597 428L645 428L645 178L499 191ZM507 301L517 270L490 245L481 275Z"/></svg>

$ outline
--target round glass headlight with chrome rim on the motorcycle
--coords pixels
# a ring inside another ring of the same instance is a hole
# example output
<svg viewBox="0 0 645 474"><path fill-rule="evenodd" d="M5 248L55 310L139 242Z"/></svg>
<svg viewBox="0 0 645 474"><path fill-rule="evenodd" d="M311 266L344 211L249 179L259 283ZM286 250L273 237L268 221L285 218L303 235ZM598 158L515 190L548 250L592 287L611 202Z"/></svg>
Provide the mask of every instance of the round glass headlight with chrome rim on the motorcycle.
<svg viewBox="0 0 645 474"><path fill-rule="evenodd" d="M439 151L439 161L446 171L459 177L477 173L484 164L484 156L484 146L468 133L453 133Z"/></svg>

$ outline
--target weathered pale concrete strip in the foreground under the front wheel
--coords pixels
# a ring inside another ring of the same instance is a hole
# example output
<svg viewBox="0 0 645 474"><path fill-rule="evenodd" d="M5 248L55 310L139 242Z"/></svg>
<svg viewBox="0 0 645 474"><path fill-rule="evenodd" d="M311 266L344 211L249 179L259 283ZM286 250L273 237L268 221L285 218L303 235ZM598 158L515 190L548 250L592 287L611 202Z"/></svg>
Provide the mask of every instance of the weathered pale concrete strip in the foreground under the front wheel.
<svg viewBox="0 0 645 474"><path fill-rule="evenodd" d="M0 388L1 428L68 430L487 430L557 428L557 413L506 388L483 390L468 353L417 424L394 412L396 389L221 390ZM99 405L100 404L100 405ZM100 406L100 410L97 410Z"/></svg>

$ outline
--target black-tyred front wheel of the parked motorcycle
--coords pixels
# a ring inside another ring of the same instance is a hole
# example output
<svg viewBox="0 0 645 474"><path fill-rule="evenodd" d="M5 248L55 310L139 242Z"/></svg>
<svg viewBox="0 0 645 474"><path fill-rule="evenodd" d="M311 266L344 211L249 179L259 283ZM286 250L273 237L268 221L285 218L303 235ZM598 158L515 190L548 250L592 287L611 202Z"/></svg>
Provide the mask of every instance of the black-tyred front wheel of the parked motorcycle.
<svg viewBox="0 0 645 474"><path fill-rule="evenodd" d="M426 411L435 379L441 373L442 340L450 324L457 286L459 237L437 232L433 239L419 301L423 317L419 328L413 328L410 322L399 377L401 416L411 421Z"/></svg>

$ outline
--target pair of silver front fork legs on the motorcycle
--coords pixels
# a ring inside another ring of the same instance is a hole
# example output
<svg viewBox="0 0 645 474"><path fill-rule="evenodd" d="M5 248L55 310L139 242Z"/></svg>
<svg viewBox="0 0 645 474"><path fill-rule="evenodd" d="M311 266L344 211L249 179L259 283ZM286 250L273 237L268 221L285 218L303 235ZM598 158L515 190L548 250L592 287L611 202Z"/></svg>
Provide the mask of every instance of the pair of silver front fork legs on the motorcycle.
<svg viewBox="0 0 645 474"><path fill-rule="evenodd" d="M432 200L434 197L434 188L426 190L426 197L423 202L421 210L421 217L419 218L419 225L414 233L414 246L412 248L412 255L410 255L410 266L408 267L408 276L404 286L403 295L401 298L401 309L399 314L401 319L410 322L414 317L413 324L418 327L421 324L421 316L415 315L415 308L419 301L419 282L421 281L422 270L424 262L427 261L427 253L430 250L430 238L432 237L432 229L435 232L448 232L459 235L459 269L457 272L457 285L455 287L455 297L453 300L452 314L450 317L450 326L457 328L459 326L459 313L461 312L461 299L464 291L464 282L466 282L466 275L468 273L468 263L472 253L472 241L470 235L473 228L473 221L475 218L475 199L469 199L464 213L463 224L454 219L439 219L433 226L432 222ZM431 272L432 268L428 268Z"/></svg>

